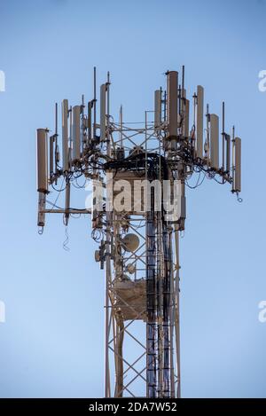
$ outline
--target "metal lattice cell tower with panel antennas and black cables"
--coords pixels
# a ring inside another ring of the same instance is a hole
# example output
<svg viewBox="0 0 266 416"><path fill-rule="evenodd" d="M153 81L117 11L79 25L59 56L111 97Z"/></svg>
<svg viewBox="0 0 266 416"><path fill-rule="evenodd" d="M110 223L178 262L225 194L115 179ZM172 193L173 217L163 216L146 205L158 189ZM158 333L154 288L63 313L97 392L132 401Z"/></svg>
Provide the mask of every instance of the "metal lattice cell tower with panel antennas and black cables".
<svg viewBox="0 0 266 416"><path fill-rule="evenodd" d="M190 101L184 67L180 83L176 71L166 78L167 88L155 90L144 122L124 122L122 107L115 122L109 73L98 110L94 68L88 105L83 96L77 106L62 101L60 145L57 104L54 134L37 130L40 232L48 213L63 214L65 225L74 214L88 214L98 242L95 260L106 277L106 397L181 396L179 236L185 187L194 174L197 185L209 178L231 184L238 199L241 191L241 140L234 128L231 134L225 130L224 103L220 135L219 117L208 105L204 111L203 87ZM71 190L82 176L93 183L93 203L73 208ZM48 201L52 190L65 192L64 207Z"/></svg>

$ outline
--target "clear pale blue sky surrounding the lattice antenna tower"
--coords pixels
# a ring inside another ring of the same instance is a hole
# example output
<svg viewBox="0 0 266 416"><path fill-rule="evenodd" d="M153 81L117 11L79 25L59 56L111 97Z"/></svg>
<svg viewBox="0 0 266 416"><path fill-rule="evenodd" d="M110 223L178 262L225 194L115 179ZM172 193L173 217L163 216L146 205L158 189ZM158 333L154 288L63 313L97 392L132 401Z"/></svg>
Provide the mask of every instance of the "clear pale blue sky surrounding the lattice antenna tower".
<svg viewBox="0 0 266 416"><path fill-rule="evenodd" d="M243 139L243 199L210 181L188 192L181 244L183 396L266 396L264 1L2 0L0 69L0 396L102 396L104 277L90 221L58 216L36 230L35 129L55 101L91 98L92 68L112 77L112 110L153 108L167 69L186 67L188 94L226 102ZM85 193L81 200L84 201Z"/></svg>

